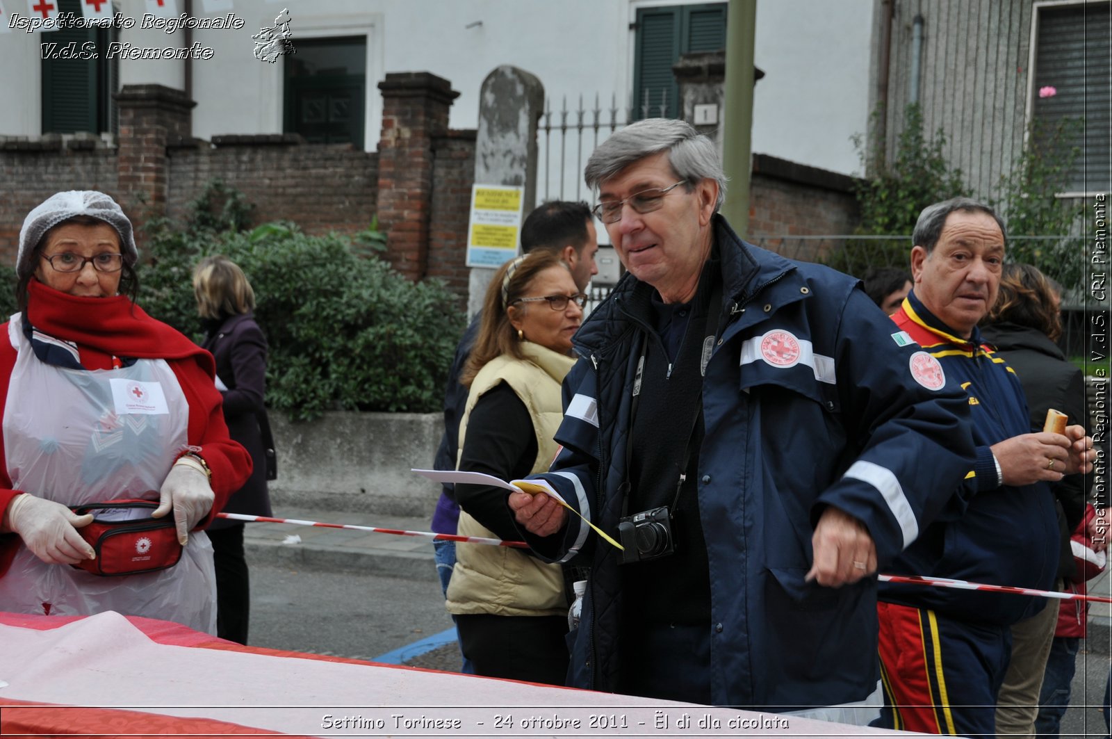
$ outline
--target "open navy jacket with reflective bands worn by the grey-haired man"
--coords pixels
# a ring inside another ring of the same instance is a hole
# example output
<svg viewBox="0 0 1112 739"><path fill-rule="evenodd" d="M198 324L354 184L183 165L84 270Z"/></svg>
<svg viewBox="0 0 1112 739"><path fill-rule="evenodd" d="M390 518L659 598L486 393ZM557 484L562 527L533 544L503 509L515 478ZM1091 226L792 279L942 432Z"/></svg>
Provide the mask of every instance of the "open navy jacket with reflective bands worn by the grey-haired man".
<svg viewBox="0 0 1112 739"><path fill-rule="evenodd" d="M699 515L711 574L715 704L787 710L862 700L876 687L876 584L804 582L813 526L827 505L860 519L890 562L973 466L969 405L956 385L930 390L858 282L744 244L715 217L721 341L703 385ZM632 275L575 337L564 382L564 450L542 475L617 539L625 441L648 331L624 308ZM618 552L574 515L527 535L549 561L590 568L569 684L615 690L620 673ZM676 676L683 680L682 674Z"/></svg>

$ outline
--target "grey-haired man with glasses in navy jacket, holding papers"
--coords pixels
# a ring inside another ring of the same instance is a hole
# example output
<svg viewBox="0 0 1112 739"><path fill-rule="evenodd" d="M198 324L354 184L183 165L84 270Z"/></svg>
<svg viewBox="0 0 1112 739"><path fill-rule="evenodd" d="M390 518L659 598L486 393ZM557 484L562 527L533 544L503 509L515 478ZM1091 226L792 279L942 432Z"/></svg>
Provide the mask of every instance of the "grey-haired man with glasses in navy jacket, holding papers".
<svg viewBox="0 0 1112 739"><path fill-rule="evenodd" d="M585 570L569 684L867 722L871 575L972 467L964 395L857 280L742 242L687 124L628 126L586 179L628 274L576 335L539 475L578 515L509 497L539 556Z"/></svg>

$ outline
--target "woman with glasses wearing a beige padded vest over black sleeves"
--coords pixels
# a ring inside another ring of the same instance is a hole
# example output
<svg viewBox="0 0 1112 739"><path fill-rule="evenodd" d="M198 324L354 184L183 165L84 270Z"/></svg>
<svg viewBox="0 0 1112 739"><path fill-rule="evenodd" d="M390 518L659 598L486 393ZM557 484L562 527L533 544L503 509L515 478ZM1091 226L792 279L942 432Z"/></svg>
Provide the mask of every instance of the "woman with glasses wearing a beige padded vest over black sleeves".
<svg viewBox="0 0 1112 739"><path fill-rule="evenodd" d="M563 417L560 383L575 361L579 293L559 256L534 252L503 265L487 289L483 323L460 383L458 469L503 480L548 469ZM519 539L498 487L456 485L459 533ZM448 585L464 656L477 674L564 684L568 602L559 565L527 551L460 544Z"/></svg>

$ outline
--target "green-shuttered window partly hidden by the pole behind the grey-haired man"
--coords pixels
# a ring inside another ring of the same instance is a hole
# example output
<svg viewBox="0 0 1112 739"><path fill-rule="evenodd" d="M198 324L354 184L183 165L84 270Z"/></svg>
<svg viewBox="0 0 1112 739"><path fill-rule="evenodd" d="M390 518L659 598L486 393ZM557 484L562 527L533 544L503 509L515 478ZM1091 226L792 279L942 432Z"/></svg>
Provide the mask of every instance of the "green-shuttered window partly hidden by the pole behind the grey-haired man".
<svg viewBox="0 0 1112 739"><path fill-rule="evenodd" d="M672 66L685 53L726 48L726 3L637 10L633 117L675 118L679 86Z"/></svg>

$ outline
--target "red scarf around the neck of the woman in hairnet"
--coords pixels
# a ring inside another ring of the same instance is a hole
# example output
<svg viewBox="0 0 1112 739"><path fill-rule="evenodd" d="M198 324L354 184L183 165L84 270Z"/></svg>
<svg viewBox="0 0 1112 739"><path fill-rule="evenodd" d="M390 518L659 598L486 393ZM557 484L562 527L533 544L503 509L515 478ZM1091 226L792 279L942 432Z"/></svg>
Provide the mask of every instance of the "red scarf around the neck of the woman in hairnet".
<svg viewBox="0 0 1112 739"><path fill-rule="evenodd" d="M105 354L143 359L197 356L209 375L216 372L211 354L151 318L126 295L79 297L31 278L27 285L27 317L44 334Z"/></svg>

